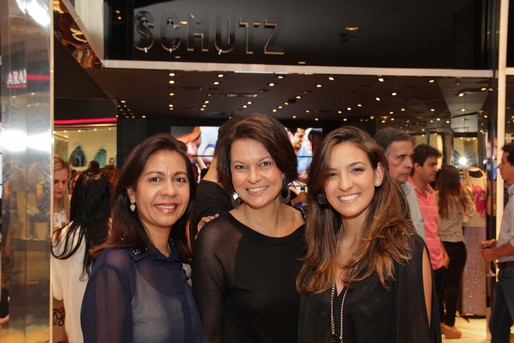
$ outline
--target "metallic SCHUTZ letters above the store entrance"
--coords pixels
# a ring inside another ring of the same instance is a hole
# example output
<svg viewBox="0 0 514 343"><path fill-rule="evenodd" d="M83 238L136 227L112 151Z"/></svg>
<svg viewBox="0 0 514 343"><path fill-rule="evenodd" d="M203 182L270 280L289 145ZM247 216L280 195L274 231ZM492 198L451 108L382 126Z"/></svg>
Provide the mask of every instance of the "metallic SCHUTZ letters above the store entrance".
<svg viewBox="0 0 514 343"><path fill-rule="evenodd" d="M168 12L156 20L148 11L134 15L134 47L143 52L163 49L169 53L215 51L229 54L240 50L246 55L284 55L276 46L283 26L280 18L243 18L189 13L187 19Z"/></svg>

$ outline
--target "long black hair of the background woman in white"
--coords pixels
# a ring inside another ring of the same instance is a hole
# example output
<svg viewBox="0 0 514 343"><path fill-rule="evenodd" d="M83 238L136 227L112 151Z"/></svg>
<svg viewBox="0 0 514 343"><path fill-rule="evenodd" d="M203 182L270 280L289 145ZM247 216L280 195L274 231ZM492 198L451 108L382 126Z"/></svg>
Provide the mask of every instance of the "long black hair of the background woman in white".
<svg viewBox="0 0 514 343"><path fill-rule="evenodd" d="M89 276L94 262L89 250L103 243L109 231L109 184L105 176L98 172L80 175L71 197L70 220L66 230L54 232L51 253L57 259L66 260L85 241L83 278Z"/></svg>

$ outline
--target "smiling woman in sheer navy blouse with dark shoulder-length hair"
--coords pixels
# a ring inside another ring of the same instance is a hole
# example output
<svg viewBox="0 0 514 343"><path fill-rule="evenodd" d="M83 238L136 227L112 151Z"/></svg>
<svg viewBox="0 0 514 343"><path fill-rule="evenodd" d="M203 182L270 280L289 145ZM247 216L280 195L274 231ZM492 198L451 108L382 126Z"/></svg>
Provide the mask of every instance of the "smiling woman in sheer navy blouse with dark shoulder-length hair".
<svg viewBox="0 0 514 343"><path fill-rule="evenodd" d="M85 342L201 342L200 316L183 263L195 182L170 134L136 146L113 196L112 230L82 303Z"/></svg>

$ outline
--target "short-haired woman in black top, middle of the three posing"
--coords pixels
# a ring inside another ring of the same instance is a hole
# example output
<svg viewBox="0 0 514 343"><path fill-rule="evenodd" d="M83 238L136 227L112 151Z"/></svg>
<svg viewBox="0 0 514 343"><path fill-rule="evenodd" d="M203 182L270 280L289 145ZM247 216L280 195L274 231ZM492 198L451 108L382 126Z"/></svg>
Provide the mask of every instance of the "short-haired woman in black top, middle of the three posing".
<svg viewBox="0 0 514 343"><path fill-rule="evenodd" d="M293 147L284 126L260 114L237 122L219 147L220 183L241 204L205 224L195 243L203 342L296 343L304 221L286 205Z"/></svg>

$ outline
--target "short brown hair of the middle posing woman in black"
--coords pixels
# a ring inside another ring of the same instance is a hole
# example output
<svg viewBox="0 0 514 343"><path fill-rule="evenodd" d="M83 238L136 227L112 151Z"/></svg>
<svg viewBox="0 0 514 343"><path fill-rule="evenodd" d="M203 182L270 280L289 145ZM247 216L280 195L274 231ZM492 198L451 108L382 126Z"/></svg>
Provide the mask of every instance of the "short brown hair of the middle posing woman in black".
<svg viewBox="0 0 514 343"><path fill-rule="evenodd" d="M278 120L266 114L255 113L235 123L219 142L216 170L218 179L227 193L234 193L230 170L232 143L239 139L251 139L261 143L284 173L285 183L298 178L298 162L286 129Z"/></svg>

